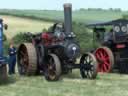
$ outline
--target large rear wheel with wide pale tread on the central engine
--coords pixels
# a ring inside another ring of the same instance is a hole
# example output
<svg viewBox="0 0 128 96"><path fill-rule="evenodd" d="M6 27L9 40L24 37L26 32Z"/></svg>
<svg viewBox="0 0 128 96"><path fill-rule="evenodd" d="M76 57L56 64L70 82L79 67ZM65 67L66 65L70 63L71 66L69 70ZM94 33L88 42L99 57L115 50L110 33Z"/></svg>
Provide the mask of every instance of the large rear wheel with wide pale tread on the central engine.
<svg viewBox="0 0 128 96"><path fill-rule="evenodd" d="M31 43L21 44L17 54L18 71L20 75L35 75L37 71L37 54Z"/></svg>

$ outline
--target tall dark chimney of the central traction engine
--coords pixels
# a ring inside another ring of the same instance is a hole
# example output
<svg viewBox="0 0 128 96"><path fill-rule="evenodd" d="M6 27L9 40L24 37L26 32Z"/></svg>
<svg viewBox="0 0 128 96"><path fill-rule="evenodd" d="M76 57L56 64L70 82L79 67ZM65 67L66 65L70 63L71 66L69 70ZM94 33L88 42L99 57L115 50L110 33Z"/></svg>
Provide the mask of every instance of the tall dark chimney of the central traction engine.
<svg viewBox="0 0 128 96"><path fill-rule="evenodd" d="M64 28L67 34L72 32L72 4L64 4Z"/></svg>

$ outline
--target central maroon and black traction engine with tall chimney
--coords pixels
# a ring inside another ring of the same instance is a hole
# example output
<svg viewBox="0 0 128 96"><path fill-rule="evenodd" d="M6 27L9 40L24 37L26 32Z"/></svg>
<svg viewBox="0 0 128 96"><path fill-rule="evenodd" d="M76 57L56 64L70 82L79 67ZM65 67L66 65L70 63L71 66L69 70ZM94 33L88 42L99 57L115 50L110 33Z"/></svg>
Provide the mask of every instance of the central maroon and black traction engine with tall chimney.
<svg viewBox="0 0 128 96"><path fill-rule="evenodd" d="M46 80L58 80L60 75L79 68L82 78L94 79L97 61L93 54L80 55L80 46L72 32L72 5L64 5L64 24L53 25L52 32L31 34L31 43L18 48L18 71L20 75L36 75L43 72ZM80 63L76 64L77 58Z"/></svg>

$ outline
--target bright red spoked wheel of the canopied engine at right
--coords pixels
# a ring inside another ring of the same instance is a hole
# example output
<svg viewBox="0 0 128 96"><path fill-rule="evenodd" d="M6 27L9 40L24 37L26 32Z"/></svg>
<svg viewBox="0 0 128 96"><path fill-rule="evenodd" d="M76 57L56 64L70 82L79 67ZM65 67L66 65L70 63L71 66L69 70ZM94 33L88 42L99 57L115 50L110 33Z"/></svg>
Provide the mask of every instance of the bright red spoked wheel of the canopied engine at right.
<svg viewBox="0 0 128 96"><path fill-rule="evenodd" d="M101 47L94 54L98 61L98 72L110 72L114 64L112 51L107 47Z"/></svg>

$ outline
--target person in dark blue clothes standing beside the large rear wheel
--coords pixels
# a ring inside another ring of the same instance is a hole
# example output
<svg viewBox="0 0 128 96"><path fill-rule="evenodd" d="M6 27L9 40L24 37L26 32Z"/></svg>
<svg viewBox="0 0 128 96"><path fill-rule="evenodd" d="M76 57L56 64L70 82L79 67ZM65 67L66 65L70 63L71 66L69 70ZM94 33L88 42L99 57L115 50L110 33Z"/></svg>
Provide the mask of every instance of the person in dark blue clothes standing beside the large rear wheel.
<svg viewBox="0 0 128 96"><path fill-rule="evenodd" d="M9 74L15 74L15 65L16 65L16 48L14 47L13 42L10 43L8 49L9 54Z"/></svg>

